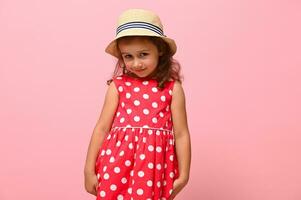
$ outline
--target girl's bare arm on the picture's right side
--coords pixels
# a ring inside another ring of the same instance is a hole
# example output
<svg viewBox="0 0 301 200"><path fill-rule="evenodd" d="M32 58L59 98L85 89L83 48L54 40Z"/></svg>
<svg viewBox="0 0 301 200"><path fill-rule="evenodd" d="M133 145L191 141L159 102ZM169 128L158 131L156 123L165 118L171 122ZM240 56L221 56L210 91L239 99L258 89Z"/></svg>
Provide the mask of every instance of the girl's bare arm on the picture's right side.
<svg viewBox="0 0 301 200"><path fill-rule="evenodd" d="M176 143L176 154L179 164L178 181L187 184L191 162L191 142L187 124L185 94L180 82L176 81L173 88L171 113Z"/></svg>

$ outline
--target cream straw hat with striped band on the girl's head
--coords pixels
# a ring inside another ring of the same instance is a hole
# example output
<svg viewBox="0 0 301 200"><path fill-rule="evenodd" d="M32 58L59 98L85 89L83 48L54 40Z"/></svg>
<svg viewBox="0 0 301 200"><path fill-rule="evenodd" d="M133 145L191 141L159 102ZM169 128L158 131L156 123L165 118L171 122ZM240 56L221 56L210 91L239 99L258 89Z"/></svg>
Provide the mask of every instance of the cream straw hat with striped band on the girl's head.
<svg viewBox="0 0 301 200"><path fill-rule="evenodd" d="M172 55L177 51L177 45L163 33L163 25L158 15L149 10L129 9L118 18L116 37L106 47L105 51L118 58L119 51L116 39L125 36L154 36L162 38L169 45Z"/></svg>

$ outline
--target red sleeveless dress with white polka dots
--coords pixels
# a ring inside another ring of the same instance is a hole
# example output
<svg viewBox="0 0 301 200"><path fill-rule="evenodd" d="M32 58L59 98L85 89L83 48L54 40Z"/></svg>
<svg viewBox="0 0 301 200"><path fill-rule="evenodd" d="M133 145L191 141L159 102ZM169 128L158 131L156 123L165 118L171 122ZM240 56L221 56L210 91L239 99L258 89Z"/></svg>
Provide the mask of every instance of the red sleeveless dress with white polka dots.
<svg viewBox="0 0 301 200"><path fill-rule="evenodd" d="M178 177L170 104L174 81L113 78L119 104L96 160L97 200L168 200Z"/></svg>

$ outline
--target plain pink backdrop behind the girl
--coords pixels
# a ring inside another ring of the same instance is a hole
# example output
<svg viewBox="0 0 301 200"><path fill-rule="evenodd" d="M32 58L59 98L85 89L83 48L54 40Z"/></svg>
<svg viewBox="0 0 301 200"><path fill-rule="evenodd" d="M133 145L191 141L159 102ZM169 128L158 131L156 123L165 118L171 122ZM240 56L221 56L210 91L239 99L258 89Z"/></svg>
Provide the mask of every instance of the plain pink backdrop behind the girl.
<svg viewBox="0 0 301 200"><path fill-rule="evenodd" d="M104 48L130 7L156 11L179 47L193 158L177 199L301 199L300 1L182 2L0 1L1 200L94 199Z"/></svg>

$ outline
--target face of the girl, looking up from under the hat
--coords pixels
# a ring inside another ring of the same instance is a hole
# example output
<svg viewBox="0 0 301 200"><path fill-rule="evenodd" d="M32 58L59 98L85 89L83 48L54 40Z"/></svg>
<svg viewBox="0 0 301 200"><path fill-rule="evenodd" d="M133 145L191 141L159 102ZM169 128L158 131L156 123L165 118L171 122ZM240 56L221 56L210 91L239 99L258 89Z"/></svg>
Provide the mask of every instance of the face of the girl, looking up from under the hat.
<svg viewBox="0 0 301 200"><path fill-rule="evenodd" d="M136 76L147 77L157 68L160 53L147 38L123 38L118 47L126 69Z"/></svg>

